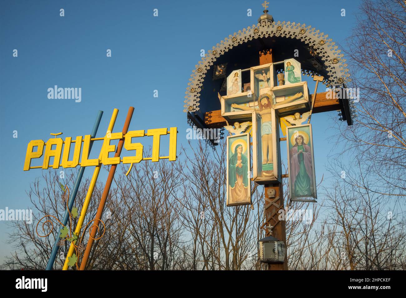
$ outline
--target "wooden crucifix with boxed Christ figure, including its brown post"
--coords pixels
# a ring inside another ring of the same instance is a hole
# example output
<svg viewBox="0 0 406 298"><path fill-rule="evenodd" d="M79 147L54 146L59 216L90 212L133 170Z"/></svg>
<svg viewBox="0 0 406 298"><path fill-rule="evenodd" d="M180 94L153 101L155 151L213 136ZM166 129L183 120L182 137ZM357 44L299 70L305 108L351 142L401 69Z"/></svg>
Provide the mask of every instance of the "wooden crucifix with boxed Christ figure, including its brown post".
<svg viewBox="0 0 406 298"><path fill-rule="evenodd" d="M279 137L281 118L284 123L288 122L286 125L300 125L307 120L305 115L309 114L312 106L313 113L317 113L340 109L340 105L337 99L328 99L326 92L317 94L312 103L313 98L309 95L307 82L301 82L300 79L300 64L294 66L296 60L273 63L272 50L260 52L259 57L260 65L249 69L250 90L244 88L238 93L234 90L232 95L219 96L221 110L209 112L210 118L206 124L219 127L224 126L227 120L231 123L252 121L253 180L265 184L266 194L265 222L262 228L274 226L273 236L286 242L285 221L278 219L278 211L284 208L281 179L287 177L281 173L280 141L286 140ZM281 69L281 66L285 75L276 71ZM234 76L234 82L237 81L235 77L238 75ZM241 86L241 82L239 83ZM312 178L314 179L314 176ZM270 189L274 191L268 192ZM268 193L274 195L268 196ZM268 229L266 234L270 235ZM287 269L287 262L270 266L275 266L275 269Z"/></svg>

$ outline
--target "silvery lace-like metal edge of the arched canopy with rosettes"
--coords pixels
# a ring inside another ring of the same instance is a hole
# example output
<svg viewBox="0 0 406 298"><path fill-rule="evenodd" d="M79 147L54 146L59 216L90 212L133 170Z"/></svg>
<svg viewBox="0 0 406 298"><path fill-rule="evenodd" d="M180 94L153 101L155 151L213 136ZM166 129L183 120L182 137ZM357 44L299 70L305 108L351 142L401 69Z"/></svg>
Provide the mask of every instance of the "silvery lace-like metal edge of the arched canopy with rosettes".
<svg viewBox="0 0 406 298"><path fill-rule="evenodd" d="M272 16L270 16L270 18L260 18L257 25L229 35L205 54L192 71L192 75L190 75L185 92L184 111L193 112L199 110L200 91L206 73L220 56L237 45L272 36L297 39L312 48L317 57L324 63L324 70L327 73L327 77L323 81L324 85L343 87L343 84L350 81L350 74L347 64L345 64L346 60L343 59L344 55L341 54L341 50L338 49L333 40L328 38L327 34L320 33L320 30L305 24L291 23L290 21L278 21L275 23ZM314 71L302 69L302 74L313 77Z"/></svg>

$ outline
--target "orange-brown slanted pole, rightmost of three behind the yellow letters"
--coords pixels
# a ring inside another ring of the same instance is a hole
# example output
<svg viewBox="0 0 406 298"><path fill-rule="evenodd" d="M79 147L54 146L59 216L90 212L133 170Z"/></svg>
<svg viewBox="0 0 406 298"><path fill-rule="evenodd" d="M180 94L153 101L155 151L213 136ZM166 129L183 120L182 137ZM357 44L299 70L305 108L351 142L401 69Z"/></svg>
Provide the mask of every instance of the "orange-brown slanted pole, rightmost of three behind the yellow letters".
<svg viewBox="0 0 406 298"><path fill-rule="evenodd" d="M133 113L134 113L134 107L130 107L128 109L127 118L125 118L125 122L124 122L124 126L123 126L123 135L125 135L128 131L128 127L130 126L130 122L131 122ZM117 145L117 150L116 150L116 154L114 155L114 157L120 157L121 150L123 149L123 144L124 144L124 139L121 139L119 141L119 144ZM94 223L91 227L89 242L87 242L86 249L84 251L79 270L84 270L86 268L86 264L89 259L90 251L92 250L92 245L94 242L94 238L96 236L96 232L99 229L99 223L100 223L100 220L102 219L104 205L106 205L106 199L107 199L108 193L110 191L111 182L113 181L113 177L114 177L114 173L116 172L116 169L117 169L117 165L112 165L110 168L110 172L108 173L106 185L104 186L102 198L100 199L99 208L97 208L96 217L95 217Z"/></svg>

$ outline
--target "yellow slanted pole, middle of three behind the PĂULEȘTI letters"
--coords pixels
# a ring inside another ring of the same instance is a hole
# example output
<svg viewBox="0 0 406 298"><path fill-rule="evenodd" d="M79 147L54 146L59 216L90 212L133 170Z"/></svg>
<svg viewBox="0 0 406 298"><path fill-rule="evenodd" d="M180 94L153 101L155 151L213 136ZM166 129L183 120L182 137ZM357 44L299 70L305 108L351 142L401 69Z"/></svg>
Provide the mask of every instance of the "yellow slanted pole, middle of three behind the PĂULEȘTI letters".
<svg viewBox="0 0 406 298"><path fill-rule="evenodd" d="M113 110L113 114L111 116L110 123L108 124L107 133L111 133L113 131L114 123L116 122L116 118L117 118L118 113L119 113L118 109ZM102 151L103 150L100 150L100 155L101 155ZM99 159L100 158L101 158L101 156L99 156ZM87 208L89 207L90 199L91 199L92 194L93 194L93 190L95 189L97 178L99 177L100 168L101 168L101 164L97 165L95 167L95 170L94 170L93 176L92 176L92 180L90 181L89 189L88 189L87 194L86 194L86 198L84 199L82 210L80 211L80 217L79 217L79 220L78 220L78 224L76 225L76 229L75 229L75 234L76 234L76 236L78 236L78 239L79 239L80 230L82 229L82 225L83 225L83 222L84 222L84 217L86 216ZM71 246L69 247L69 251L68 251L68 254L66 255L65 264L63 265L62 270L68 270L68 268L69 268L69 266L68 266L68 263L69 263L68 258L73 255L74 251L75 251L75 246L74 246L73 242L71 242Z"/></svg>

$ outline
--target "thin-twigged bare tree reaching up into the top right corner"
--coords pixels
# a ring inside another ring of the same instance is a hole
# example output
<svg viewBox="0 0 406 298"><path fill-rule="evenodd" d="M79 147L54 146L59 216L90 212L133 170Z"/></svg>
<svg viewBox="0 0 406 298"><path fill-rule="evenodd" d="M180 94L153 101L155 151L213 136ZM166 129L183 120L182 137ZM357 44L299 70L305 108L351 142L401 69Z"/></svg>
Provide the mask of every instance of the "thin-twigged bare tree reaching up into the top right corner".
<svg viewBox="0 0 406 298"><path fill-rule="evenodd" d="M406 2L363 1L346 54L354 88L354 125L341 126L345 159L370 173L369 191L406 196ZM350 158L352 157L352 159ZM352 167L350 165L349 167Z"/></svg>

